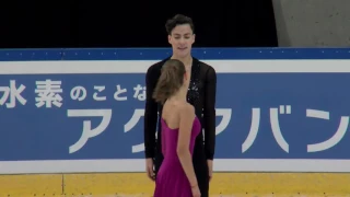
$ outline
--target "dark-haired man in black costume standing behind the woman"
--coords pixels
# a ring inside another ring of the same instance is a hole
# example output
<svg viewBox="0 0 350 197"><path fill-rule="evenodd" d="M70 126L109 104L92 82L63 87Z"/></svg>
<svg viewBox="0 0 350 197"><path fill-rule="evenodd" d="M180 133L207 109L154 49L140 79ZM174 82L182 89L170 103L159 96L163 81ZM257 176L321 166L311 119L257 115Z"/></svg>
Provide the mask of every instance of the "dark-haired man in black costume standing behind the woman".
<svg viewBox="0 0 350 197"><path fill-rule="evenodd" d="M152 65L145 74L147 101L144 107L144 152L145 167L150 178L155 179L162 164L162 104L156 102L152 94L161 76L161 69L168 59L180 60L189 76L187 102L195 107L196 116L200 119L205 135L200 132L196 138L192 162L198 186L202 197L209 196L209 182L212 177L212 160L215 148L215 70L191 56L191 46L195 43L194 23L190 18L175 15L166 22L168 43L173 55ZM158 137L155 130L158 124ZM154 171L153 171L154 165Z"/></svg>

